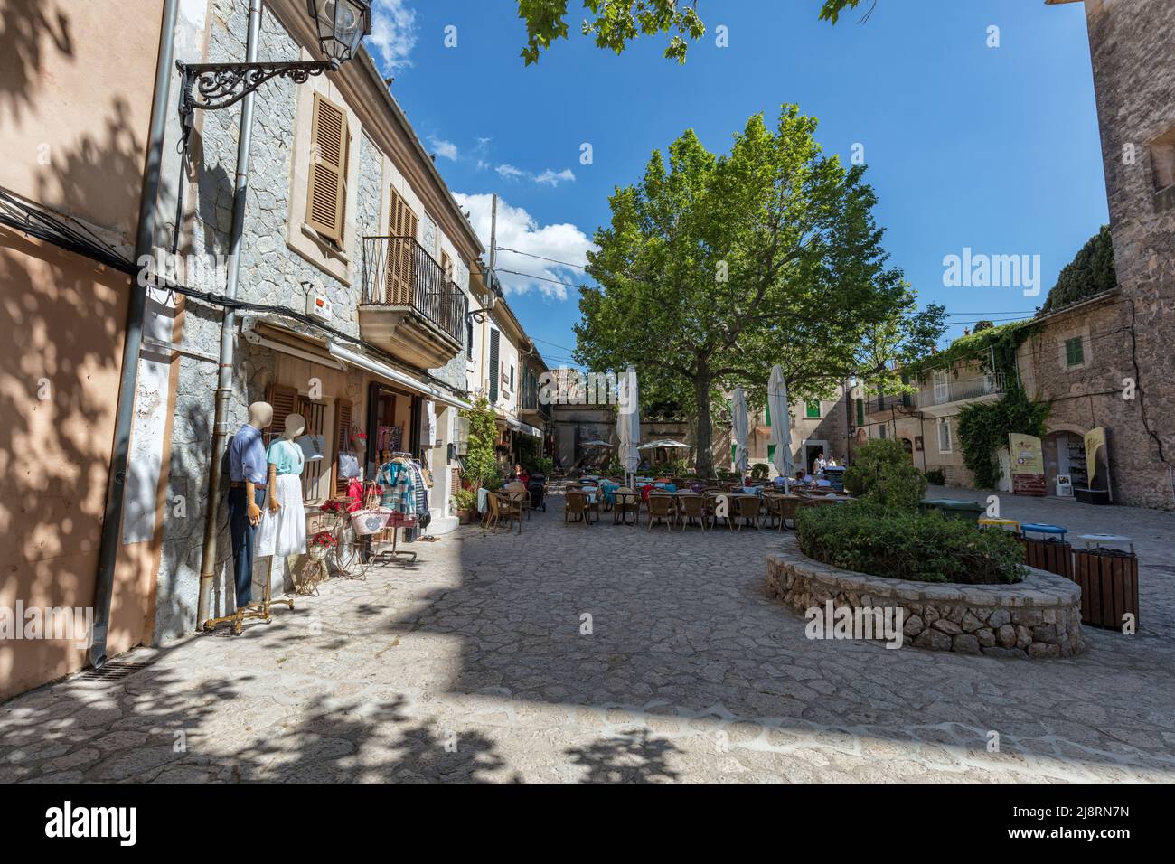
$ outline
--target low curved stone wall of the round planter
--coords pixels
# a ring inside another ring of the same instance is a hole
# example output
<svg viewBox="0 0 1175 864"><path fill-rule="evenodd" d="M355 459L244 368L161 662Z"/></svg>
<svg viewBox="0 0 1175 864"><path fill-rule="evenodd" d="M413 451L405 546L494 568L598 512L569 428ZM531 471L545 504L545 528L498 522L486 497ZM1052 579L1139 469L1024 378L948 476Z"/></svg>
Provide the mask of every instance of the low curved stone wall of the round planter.
<svg viewBox="0 0 1175 864"><path fill-rule="evenodd" d="M800 554L794 537L767 552L767 590L793 610L902 608L905 645L994 657L1069 657L1085 649L1081 589L1029 569L1015 585L961 585L870 576Z"/></svg>

